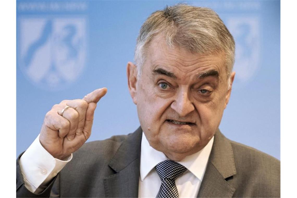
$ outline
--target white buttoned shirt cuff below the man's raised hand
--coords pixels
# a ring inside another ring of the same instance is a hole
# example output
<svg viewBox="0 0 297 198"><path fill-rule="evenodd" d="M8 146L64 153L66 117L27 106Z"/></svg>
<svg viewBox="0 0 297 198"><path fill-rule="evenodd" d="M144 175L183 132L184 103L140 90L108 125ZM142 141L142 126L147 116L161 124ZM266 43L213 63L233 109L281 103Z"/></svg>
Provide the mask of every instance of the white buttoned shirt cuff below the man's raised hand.
<svg viewBox="0 0 297 198"><path fill-rule="evenodd" d="M32 193L41 192L71 159L72 154L66 161L54 158L43 148L38 135L19 160L25 187Z"/></svg>

